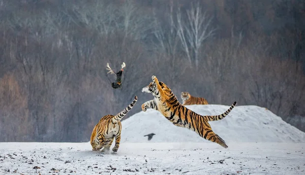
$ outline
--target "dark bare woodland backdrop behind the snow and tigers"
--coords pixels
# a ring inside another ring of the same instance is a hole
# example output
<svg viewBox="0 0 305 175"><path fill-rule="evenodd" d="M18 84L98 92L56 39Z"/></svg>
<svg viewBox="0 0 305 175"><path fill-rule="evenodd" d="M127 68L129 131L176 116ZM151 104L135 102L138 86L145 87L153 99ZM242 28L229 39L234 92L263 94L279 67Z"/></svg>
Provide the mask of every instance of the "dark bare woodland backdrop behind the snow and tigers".
<svg viewBox="0 0 305 175"><path fill-rule="evenodd" d="M304 1L3 0L0 19L0 142L89 141L135 95L141 111L152 75L180 101L253 104L305 131ZM112 89L106 63L123 61Z"/></svg>

